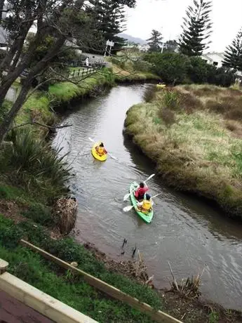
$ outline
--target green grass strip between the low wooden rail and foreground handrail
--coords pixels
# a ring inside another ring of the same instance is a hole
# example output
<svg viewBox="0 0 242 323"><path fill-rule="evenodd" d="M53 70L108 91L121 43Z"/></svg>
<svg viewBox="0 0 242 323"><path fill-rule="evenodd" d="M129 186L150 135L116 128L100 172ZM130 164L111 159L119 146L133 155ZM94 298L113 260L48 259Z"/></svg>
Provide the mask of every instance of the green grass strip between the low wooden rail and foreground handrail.
<svg viewBox="0 0 242 323"><path fill-rule="evenodd" d="M119 301L105 298L81 279L56 275L40 256L18 247L9 251L0 246L0 258L10 263L8 271L59 301L83 312L98 322L152 322L149 317Z"/></svg>

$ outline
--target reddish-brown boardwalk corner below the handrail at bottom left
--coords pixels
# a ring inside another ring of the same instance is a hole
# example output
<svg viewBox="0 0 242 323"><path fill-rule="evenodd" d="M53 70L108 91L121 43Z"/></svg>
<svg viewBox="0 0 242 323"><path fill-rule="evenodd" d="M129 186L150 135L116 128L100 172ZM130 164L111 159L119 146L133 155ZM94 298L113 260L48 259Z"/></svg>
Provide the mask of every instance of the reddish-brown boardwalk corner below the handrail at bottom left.
<svg viewBox="0 0 242 323"><path fill-rule="evenodd" d="M0 290L0 323L53 323Z"/></svg>

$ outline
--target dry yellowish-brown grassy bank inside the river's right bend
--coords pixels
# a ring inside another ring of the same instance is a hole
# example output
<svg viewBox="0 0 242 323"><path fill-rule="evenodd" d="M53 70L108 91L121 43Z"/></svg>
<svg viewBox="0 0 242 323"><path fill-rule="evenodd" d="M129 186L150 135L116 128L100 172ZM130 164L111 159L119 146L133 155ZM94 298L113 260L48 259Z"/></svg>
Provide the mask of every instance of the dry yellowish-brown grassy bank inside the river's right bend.
<svg viewBox="0 0 242 323"><path fill-rule="evenodd" d="M177 86L132 107L126 132L169 185L241 219L241 103L242 92L231 88Z"/></svg>

